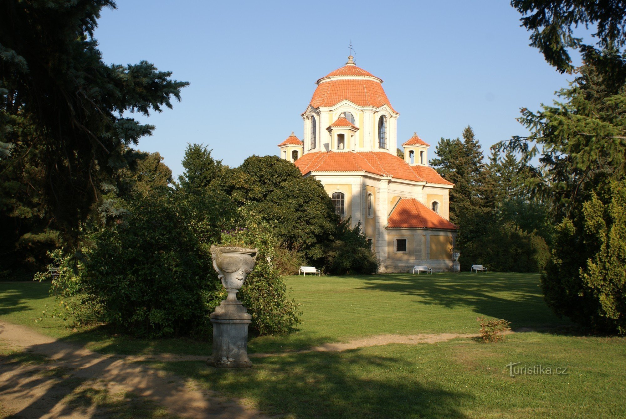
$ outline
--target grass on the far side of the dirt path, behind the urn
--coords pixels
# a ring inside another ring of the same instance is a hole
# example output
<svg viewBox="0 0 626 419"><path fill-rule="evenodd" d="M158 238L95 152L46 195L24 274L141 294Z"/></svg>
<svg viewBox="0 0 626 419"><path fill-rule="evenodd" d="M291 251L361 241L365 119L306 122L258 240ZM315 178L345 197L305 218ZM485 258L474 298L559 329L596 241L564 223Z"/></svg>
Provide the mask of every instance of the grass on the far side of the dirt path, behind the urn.
<svg viewBox="0 0 626 419"><path fill-rule="evenodd" d="M285 336L251 336L250 353L304 349L377 334L476 333L479 315L506 319L513 329L570 325L543 303L538 274L290 276L285 281L302 304L302 324ZM135 339L106 328L77 331L53 318L34 323L54 304L48 290L46 283L0 283L0 319L102 353L210 355L210 343L204 341Z"/></svg>

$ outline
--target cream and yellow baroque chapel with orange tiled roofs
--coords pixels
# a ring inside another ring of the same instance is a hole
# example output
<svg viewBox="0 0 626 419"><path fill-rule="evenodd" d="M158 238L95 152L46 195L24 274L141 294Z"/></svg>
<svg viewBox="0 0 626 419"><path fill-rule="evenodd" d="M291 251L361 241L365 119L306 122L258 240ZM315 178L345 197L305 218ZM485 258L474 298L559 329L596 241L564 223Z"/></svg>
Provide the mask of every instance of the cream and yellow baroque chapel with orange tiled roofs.
<svg viewBox="0 0 626 419"><path fill-rule="evenodd" d="M410 272L415 265L451 271L458 227L449 221L453 184L428 165L430 145L414 133L398 157L400 115L382 80L354 63L316 81L294 133L278 145L280 157L303 176L319 180L342 218L362 232L380 262L380 272ZM457 268L458 269L458 268Z"/></svg>

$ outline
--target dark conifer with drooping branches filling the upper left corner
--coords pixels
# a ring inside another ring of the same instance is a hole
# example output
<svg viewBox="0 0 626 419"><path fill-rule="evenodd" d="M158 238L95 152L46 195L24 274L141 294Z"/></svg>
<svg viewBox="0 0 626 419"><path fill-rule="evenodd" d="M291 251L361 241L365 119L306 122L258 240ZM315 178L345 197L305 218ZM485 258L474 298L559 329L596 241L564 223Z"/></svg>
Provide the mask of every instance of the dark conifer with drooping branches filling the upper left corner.
<svg viewBox="0 0 626 419"><path fill-rule="evenodd" d="M76 237L100 184L128 165L128 145L154 129L126 115L171 108L188 84L147 61L103 63L93 33L105 7L115 3L0 4L0 141L13 146L0 184L19 189L11 195L18 200L0 209L3 223L24 219L11 215L16 209L45 212L48 227Z"/></svg>

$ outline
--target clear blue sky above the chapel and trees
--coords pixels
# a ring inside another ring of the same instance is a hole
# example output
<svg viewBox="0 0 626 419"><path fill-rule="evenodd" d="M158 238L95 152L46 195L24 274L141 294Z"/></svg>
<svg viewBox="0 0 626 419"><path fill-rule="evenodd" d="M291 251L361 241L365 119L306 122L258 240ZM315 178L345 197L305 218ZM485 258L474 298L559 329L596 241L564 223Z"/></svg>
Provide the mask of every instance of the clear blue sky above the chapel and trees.
<svg viewBox="0 0 626 419"><path fill-rule="evenodd" d="M106 63L146 59L189 81L138 148L160 152L175 176L187 143L238 166L276 154L294 131L315 81L356 64L385 81L401 115L398 144L418 132L434 146L471 125L483 149L524 135L520 108L551 103L572 76L528 46L506 0L399 2L118 1L96 38ZM431 154L432 156L433 154Z"/></svg>

